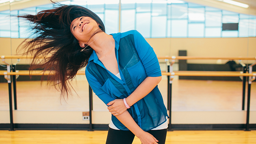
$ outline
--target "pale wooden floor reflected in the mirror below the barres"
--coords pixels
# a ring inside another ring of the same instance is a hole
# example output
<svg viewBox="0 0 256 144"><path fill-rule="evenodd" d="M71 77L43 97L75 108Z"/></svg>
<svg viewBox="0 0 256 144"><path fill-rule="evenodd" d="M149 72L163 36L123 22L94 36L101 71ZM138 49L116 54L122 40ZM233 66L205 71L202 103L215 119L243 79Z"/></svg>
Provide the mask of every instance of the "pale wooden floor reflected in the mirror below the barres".
<svg viewBox="0 0 256 144"><path fill-rule="evenodd" d="M89 86L86 80L73 81L78 95L66 101L60 92L48 88L46 82L17 82L18 110L89 111ZM159 89L167 105L167 80ZM251 85L250 110L256 110L256 82ZM172 111L240 111L242 108L241 81L174 80L172 84ZM0 83L0 110L9 110L8 84ZM93 110L107 111L106 105L93 96Z"/></svg>

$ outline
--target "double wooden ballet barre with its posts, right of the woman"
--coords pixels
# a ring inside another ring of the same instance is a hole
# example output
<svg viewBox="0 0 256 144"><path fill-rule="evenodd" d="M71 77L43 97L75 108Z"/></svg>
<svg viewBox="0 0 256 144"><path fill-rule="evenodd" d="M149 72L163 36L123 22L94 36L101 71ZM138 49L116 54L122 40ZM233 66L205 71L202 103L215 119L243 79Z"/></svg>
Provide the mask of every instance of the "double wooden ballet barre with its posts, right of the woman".
<svg viewBox="0 0 256 144"><path fill-rule="evenodd" d="M166 73L162 73L162 75L167 75L167 109L169 110L169 116L171 118L171 97L172 97L172 80L174 75L179 76L238 76L240 74L233 73L232 71L223 72L223 71L173 71L173 64L175 60L239 60L239 64L243 66L243 85L242 85L242 110L244 110L245 106L245 84L246 84L246 77L248 79L248 88L247 88L247 111L246 111L246 130L249 130L249 113L250 113L250 92L251 92L251 83L255 80L255 74L252 74L252 66L256 65L256 57L191 57L191 56L164 56L158 57L158 59L164 59L167 65ZM255 62L249 65L249 68L246 68L246 65L241 62L241 60L255 60ZM171 61L171 62L170 62ZM247 72L248 71L248 72ZM248 73L248 74L247 74ZM171 123L169 123L169 130L171 129Z"/></svg>

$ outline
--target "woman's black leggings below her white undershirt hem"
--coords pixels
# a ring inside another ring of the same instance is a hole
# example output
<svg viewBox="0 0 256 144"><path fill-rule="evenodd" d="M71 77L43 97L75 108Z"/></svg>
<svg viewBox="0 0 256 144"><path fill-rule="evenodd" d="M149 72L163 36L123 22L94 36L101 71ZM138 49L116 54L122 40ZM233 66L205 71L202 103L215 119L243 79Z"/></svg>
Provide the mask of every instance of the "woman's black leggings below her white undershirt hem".
<svg viewBox="0 0 256 144"><path fill-rule="evenodd" d="M165 144L167 129L149 130L147 132L159 141L158 144ZM131 131L108 128L106 144L132 144L134 136Z"/></svg>

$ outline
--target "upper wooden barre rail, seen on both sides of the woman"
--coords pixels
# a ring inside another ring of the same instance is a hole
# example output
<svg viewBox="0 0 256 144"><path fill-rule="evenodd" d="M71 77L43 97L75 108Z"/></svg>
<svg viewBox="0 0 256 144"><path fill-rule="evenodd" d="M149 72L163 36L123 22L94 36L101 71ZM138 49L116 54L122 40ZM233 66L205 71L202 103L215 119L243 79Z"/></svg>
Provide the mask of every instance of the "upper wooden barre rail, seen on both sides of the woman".
<svg viewBox="0 0 256 144"><path fill-rule="evenodd" d="M2 59L32 59L32 56L27 55L2 55ZM43 59L44 57L39 57ZM256 57L191 57L191 56L165 56L158 59L226 59L226 60L256 60Z"/></svg>

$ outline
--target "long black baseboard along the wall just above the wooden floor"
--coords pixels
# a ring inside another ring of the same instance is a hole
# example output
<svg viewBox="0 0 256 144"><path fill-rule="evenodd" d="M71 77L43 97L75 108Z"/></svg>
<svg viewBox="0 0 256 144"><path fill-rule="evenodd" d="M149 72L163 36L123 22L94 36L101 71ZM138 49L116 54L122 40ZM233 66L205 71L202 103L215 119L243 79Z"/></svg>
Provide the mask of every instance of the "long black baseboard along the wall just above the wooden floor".
<svg viewBox="0 0 256 144"><path fill-rule="evenodd" d="M245 130L245 124L172 124L171 130ZM15 130L89 130L89 124L14 124ZM256 130L256 124L249 125ZM0 130L10 129L9 123L0 124ZM93 130L108 130L108 124L92 124Z"/></svg>

